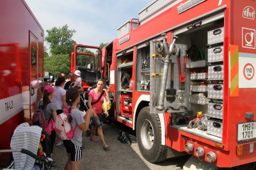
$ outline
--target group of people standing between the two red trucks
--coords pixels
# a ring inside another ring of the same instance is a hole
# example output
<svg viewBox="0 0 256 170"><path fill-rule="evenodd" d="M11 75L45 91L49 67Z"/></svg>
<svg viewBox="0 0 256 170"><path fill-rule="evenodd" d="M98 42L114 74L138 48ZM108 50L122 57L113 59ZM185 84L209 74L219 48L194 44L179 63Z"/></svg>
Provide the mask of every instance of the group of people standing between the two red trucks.
<svg viewBox="0 0 256 170"><path fill-rule="evenodd" d="M68 81L65 79L65 74L58 74L54 87L47 82L40 83L38 92L36 94L36 108L44 110L45 118L52 128L47 128L47 133L51 139L51 159L54 153L54 145L64 145L67 151L68 160L65 164L65 170L80 169L82 158L82 141L83 132L88 130L90 122L92 122L92 130L90 133L90 141L97 142L95 138L95 131L102 142L104 150L109 149L109 145L104 139L102 132L102 122L100 118L102 114L108 117L108 111L102 111L102 104L104 108L108 108L110 103L108 91L104 89L105 81L103 79L97 80L95 89L90 90L88 94L88 110L84 114L84 89L81 80L81 72L79 70L68 74ZM57 115L68 110L70 117L68 122L74 130L74 135L70 140L62 141L54 131L54 124ZM49 130L50 129L50 130ZM52 161L51 169L58 169L54 166L55 161Z"/></svg>

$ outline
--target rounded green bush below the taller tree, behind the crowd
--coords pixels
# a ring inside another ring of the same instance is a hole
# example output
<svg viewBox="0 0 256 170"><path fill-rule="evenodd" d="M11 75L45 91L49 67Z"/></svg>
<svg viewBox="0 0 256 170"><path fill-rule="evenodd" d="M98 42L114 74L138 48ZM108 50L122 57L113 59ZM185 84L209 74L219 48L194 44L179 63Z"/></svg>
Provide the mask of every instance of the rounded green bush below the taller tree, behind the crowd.
<svg viewBox="0 0 256 170"><path fill-rule="evenodd" d="M67 75L70 72L70 55L60 54L44 57L44 70L57 76L58 73Z"/></svg>

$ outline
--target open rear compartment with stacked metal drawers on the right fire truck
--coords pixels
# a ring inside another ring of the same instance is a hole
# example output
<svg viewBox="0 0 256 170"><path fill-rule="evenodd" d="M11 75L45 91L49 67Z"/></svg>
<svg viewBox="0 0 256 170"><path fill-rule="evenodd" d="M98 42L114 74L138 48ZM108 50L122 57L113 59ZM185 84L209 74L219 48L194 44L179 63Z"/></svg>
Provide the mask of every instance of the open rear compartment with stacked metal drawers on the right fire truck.
<svg viewBox="0 0 256 170"><path fill-rule="evenodd" d="M200 20L193 23L202 24ZM213 55L218 55L223 50L224 42L217 42L216 40L211 44L214 38L209 37L209 34L212 31L222 31L221 34L223 35L224 19L220 18L209 24L196 26L195 28L191 27L190 29L191 25L193 24L185 26L188 31L175 34L175 32L184 29L181 28L173 33L174 36L178 37L177 44L188 47L186 64L186 73L188 74L186 74L185 89L179 91L189 94L189 102L186 106L188 113L172 113L172 127L221 143L223 76L221 78L211 78L212 75L209 72L211 72L212 67L214 70L220 67L223 74L223 53L221 59L212 59L214 57L218 58L218 56L212 57L211 49L214 50ZM182 67L184 60L181 59L180 61ZM175 74L179 74L179 71ZM176 80L179 81L179 77ZM218 95L211 94L216 92Z"/></svg>

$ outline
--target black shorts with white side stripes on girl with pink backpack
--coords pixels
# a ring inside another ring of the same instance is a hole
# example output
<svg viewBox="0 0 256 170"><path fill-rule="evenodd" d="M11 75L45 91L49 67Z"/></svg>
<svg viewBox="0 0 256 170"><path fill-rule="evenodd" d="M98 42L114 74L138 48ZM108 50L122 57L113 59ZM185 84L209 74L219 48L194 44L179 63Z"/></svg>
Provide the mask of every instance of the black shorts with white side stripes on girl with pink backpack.
<svg viewBox="0 0 256 170"><path fill-rule="evenodd" d="M82 147L74 145L70 140L63 141L67 153L70 153L71 161L79 161L82 159Z"/></svg>

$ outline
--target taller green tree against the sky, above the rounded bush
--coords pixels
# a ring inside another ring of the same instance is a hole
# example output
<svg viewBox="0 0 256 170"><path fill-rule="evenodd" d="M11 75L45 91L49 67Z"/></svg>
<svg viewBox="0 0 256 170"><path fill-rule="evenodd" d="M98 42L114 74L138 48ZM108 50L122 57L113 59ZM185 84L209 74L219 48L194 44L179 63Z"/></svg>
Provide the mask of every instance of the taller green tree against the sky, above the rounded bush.
<svg viewBox="0 0 256 170"><path fill-rule="evenodd" d="M50 45L51 55L70 54L73 51L76 41L72 39L72 36L76 31L68 29L67 24L59 28L53 27L46 32L45 41Z"/></svg>

